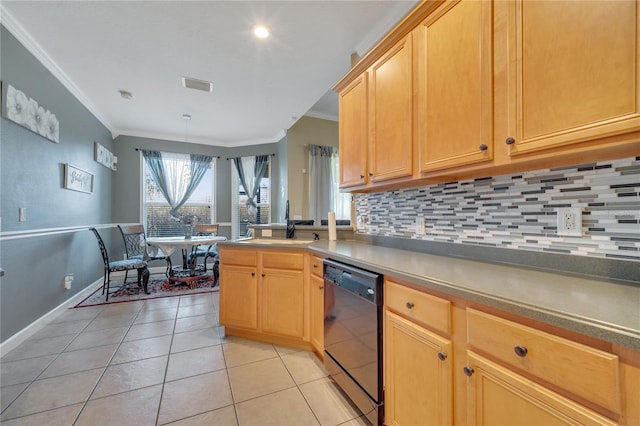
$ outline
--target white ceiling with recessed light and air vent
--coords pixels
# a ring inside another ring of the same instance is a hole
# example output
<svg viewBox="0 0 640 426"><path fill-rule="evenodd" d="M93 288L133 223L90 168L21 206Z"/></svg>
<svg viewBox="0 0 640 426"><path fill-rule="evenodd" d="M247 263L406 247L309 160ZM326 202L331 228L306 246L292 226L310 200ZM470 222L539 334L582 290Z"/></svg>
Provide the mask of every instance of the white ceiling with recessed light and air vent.
<svg viewBox="0 0 640 426"><path fill-rule="evenodd" d="M238 146L277 142L305 114L337 120L328 91L351 53L416 3L2 0L0 16L114 137ZM213 93L183 88L185 76Z"/></svg>

